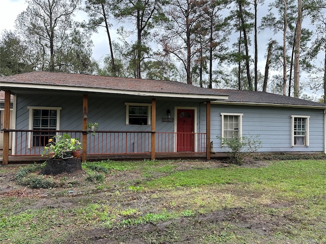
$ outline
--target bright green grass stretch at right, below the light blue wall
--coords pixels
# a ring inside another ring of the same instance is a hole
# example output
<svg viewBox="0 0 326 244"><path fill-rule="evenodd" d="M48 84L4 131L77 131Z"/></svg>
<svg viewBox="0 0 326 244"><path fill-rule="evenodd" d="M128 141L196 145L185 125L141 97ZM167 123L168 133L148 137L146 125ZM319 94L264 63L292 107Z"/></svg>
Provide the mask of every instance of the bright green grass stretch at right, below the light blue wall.
<svg viewBox="0 0 326 244"><path fill-rule="evenodd" d="M264 168L228 167L189 170L152 179L142 185L151 189L250 184L257 191L276 191L282 196L308 197L326 193L325 161L281 161Z"/></svg>

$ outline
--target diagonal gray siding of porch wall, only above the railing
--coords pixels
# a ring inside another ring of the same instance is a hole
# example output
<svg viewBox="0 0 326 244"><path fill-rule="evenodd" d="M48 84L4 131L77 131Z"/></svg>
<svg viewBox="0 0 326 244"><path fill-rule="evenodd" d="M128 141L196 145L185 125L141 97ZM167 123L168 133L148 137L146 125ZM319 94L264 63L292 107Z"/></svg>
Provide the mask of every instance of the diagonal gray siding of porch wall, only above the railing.
<svg viewBox="0 0 326 244"><path fill-rule="evenodd" d="M140 101L132 99L110 99L89 97L88 121L96 122L99 130L110 131L150 131L151 125L130 126L126 125L125 103L151 103L151 100ZM60 130L82 130L83 122L83 97L82 96L32 96L17 95L16 129L27 130L29 123L28 106L61 107ZM197 108L197 131L200 130L200 104L169 100L156 100L156 131L174 132L173 122L163 122L170 109L171 117L174 118L174 108L196 107Z"/></svg>

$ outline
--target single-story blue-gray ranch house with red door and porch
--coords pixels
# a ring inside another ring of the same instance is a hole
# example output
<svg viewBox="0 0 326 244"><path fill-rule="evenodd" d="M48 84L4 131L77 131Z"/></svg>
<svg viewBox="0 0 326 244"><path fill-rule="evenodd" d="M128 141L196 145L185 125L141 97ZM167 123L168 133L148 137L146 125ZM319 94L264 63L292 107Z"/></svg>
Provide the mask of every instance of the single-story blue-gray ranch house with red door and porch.
<svg viewBox="0 0 326 244"><path fill-rule="evenodd" d="M302 99L43 71L0 77L0 87L2 164L31 161L49 138L64 133L83 142L84 161L211 159L225 150L218 136L241 135L258 135L261 153L326 151L326 105ZM95 133L88 131L89 123L98 123Z"/></svg>

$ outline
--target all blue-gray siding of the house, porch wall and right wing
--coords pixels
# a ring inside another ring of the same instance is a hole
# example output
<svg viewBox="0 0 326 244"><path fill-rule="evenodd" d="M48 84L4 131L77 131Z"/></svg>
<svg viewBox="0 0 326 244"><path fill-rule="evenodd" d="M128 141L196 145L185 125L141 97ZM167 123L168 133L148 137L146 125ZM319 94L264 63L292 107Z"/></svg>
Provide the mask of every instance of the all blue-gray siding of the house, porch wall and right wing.
<svg viewBox="0 0 326 244"><path fill-rule="evenodd" d="M151 103L150 98L88 98L88 121L97 122L99 131L151 131L151 125L129 126L126 125L125 103ZM82 130L83 122L83 96L37 96L17 95L16 129L28 129L28 106L62 107L60 111L60 130ZM156 132L174 132L175 123L164 122L167 110L171 111L174 118L175 107L197 108L197 132L206 132L206 105L197 102L180 102L177 100L156 100ZM324 148L324 121L322 109L299 109L286 107L260 107L260 106L235 106L211 105L211 141L215 151L224 151L221 142L216 136L221 135L221 113L243 113L242 135L259 135L262 141L261 152L312 152L323 151ZM291 115L310 116L309 147L291 147ZM93 138L96 140L96 138ZM120 138L117 143L124 143ZM156 145L162 144L156 137ZM108 141L107 141L108 143ZM166 146L174 147L174 138L166 141ZM97 143L93 143L96 147ZM128 145L128 150L133 151L138 145ZM141 150L148 151L149 145L142 145ZM157 148L156 148L157 150Z"/></svg>

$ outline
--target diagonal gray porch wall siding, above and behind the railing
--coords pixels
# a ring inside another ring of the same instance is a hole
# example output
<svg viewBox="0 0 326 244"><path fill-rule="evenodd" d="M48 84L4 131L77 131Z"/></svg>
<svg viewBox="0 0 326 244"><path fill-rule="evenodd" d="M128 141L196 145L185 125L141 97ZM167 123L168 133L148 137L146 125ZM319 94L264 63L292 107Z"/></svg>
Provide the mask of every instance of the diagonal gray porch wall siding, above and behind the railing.
<svg viewBox="0 0 326 244"><path fill-rule="evenodd" d="M108 97L88 97L88 122L96 122L99 125L99 131L138 131L150 132L151 125L131 126L126 125L126 105L125 103L151 103L151 99L116 99ZM82 130L83 123L83 96L37 96L37 95L17 95L16 129L29 129L29 109L28 106L38 107L61 107L60 110L60 130ZM174 108L178 107L196 107L197 108L197 131L200 131L200 104L194 102L180 102L171 100L156 100L156 132L174 132L174 122L162 121L167 117L167 110L171 111L171 117L174 118ZM121 153L121 148L126 148L130 153L144 152L150 150L148 136L150 134L131 134L131 137L140 138L139 142L129 143L125 146L125 134L115 134L110 138L102 138L102 134L96 133L95 136L89 135L91 150L101 150L97 148L98 141L110 145L107 151ZM161 137L156 136L156 150L158 147L170 148L174 150L174 135L169 135L168 140L164 139L165 145L162 146ZM133 141L129 137L128 141ZM136 140L137 141L137 140ZM105 153L105 151L99 151Z"/></svg>

